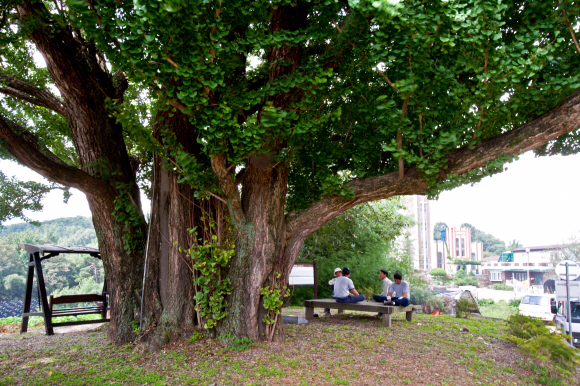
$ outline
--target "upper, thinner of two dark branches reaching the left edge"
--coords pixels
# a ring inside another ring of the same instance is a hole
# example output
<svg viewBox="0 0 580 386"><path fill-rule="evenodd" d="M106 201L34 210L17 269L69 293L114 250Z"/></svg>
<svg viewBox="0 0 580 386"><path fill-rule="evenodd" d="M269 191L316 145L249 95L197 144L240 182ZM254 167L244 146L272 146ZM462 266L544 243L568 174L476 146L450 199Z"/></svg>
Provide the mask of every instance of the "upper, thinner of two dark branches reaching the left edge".
<svg viewBox="0 0 580 386"><path fill-rule="evenodd" d="M1 93L40 107L45 107L66 117L66 107L63 102L48 91L42 90L30 83L18 80L13 75L0 74L0 79L4 80L4 82L10 86L7 88L0 88Z"/></svg>

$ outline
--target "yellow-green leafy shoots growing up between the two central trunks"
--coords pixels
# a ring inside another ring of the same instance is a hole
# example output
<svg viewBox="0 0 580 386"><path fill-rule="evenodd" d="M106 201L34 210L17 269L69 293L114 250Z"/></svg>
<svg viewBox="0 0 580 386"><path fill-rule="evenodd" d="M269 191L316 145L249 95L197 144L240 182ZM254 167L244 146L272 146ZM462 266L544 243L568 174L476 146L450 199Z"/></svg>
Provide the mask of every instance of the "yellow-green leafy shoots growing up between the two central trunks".
<svg viewBox="0 0 580 386"><path fill-rule="evenodd" d="M205 213L204 216L209 220L207 227L202 230L202 237L198 237L197 227L189 229L195 242L186 253L193 262L198 323L209 330L215 328L218 321L228 314L226 296L232 292L232 285L226 275L235 254L235 245L231 238L224 237L221 229L216 229L216 223L209 214ZM202 217L201 220L205 221L205 218ZM229 228L227 231L227 234L231 234Z"/></svg>

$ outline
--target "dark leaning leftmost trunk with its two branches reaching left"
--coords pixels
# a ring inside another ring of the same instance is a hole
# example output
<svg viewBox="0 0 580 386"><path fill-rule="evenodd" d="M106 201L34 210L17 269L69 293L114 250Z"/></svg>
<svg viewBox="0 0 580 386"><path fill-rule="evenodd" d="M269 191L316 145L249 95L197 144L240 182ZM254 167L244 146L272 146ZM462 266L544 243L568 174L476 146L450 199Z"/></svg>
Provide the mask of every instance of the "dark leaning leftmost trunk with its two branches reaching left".
<svg viewBox="0 0 580 386"><path fill-rule="evenodd" d="M139 249L146 229L122 127L108 114L105 103L107 98L122 97L124 88L115 87L94 45L84 41L79 31L53 22L42 3L23 1L16 9L21 23L32 25L28 37L43 55L62 99L19 81L13 74L3 74L9 87L0 91L63 115L69 122L80 169L66 165L40 146L32 133L2 117L0 138L6 140L8 151L21 164L86 194L109 283L111 323L107 335L121 344L132 338L131 322L139 311L133 291L141 286L143 254ZM118 219L116 200L130 203L141 220L129 224ZM129 252L125 250L127 240L133 245Z"/></svg>

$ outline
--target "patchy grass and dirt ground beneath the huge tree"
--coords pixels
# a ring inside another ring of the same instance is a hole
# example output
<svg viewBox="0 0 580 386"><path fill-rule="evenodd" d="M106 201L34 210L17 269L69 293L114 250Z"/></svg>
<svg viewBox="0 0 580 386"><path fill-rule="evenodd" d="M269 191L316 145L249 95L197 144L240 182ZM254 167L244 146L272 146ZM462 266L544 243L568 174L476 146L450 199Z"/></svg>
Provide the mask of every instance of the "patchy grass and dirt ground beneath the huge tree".
<svg viewBox="0 0 580 386"><path fill-rule="evenodd" d="M322 310L316 312L321 313ZM303 309L284 314L304 316ZM532 385L534 364L501 339L505 323L404 314L393 327L346 312L285 325L283 343L171 339L156 353L106 341L106 325L0 334L0 385ZM81 329L82 328L82 329ZM56 331L55 331L56 332ZM580 384L580 374L562 384Z"/></svg>

